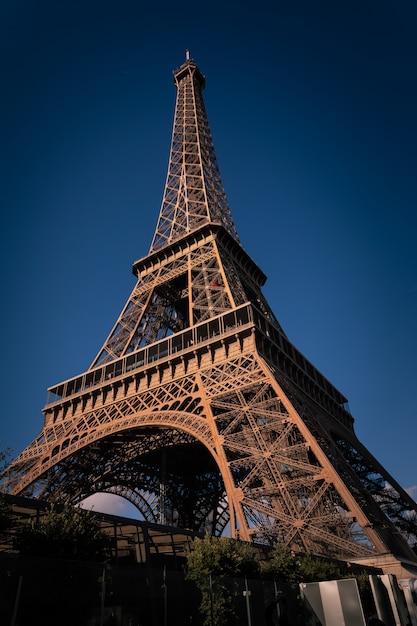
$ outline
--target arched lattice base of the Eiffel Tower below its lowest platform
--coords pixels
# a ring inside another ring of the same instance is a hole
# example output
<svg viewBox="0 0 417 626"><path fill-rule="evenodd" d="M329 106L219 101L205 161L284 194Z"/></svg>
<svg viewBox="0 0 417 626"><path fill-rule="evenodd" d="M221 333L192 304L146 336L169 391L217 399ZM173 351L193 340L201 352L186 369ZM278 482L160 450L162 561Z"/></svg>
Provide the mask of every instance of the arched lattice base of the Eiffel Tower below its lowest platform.
<svg viewBox="0 0 417 626"><path fill-rule="evenodd" d="M242 538L278 539L337 558L385 550L383 526L392 530L395 520L381 513L377 501L366 510L358 506L346 488L351 472L346 460L339 453L338 463L331 462L326 450L339 449L337 443L331 443L325 428L317 443L306 426L309 420L256 356L254 341L253 334L243 341L235 337L229 356L221 344L214 352L207 346L205 357L189 355L195 362L188 375L179 369L173 375L170 367L161 366L160 375L144 383L143 390L126 384L116 393L103 393L102 406L80 411L74 403L74 415L67 413L54 442L55 452L50 447L48 454L39 450L31 458L32 467L26 467L16 492L38 485L42 497L79 501L96 490L116 491L154 520L161 506L162 451L175 448L190 455L199 442L209 452L201 471L195 468L192 487L184 486L185 475L178 473L179 457L165 477L172 523L186 520L195 530L215 533L229 524ZM292 392L301 402L300 393ZM28 456L22 454L25 461ZM18 464L14 469L19 474ZM401 494L396 498L402 501ZM391 548L398 552L394 543Z"/></svg>

